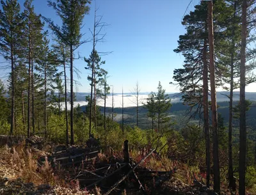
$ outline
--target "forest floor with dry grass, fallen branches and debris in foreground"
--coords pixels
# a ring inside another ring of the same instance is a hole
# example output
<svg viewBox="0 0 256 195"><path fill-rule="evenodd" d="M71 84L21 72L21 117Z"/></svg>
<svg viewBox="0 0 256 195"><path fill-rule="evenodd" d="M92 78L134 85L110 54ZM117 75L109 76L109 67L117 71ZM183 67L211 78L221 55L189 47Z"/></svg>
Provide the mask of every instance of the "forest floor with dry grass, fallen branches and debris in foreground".
<svg viewBox="0 0 256 195"><path fill-rule="evenodd" d="M101 152L93 140L90 147L42 143L35 137L1 147L0 194L214 194L196 169L154 150L130 151L125 163L122 151Z"/></svg>

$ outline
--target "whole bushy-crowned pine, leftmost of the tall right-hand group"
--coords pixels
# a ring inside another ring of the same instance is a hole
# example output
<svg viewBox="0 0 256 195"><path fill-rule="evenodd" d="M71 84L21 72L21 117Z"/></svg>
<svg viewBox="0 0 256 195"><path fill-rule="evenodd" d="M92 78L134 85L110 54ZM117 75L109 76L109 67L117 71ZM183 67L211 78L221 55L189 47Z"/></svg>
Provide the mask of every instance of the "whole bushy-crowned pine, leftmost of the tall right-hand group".
<svg viewBox="0 0 256 195"><path fill-rule="evenodd" d="M224 1L214 1L214 17L225 13ZM222 30L220 22L215 19L214 42L220 42ZM185 58L184 67L175 69L173 79L180 86L182 100L189 105L191 117L198 114L201 116L201 109L204 109L204 132L205 132L205 164L207 166L207 186L210 184L210 141L209 141L209 108L208 108L208 75L209 75L209 44L208 44L208 22L207 2L195 6L195 11L190 12L183 19L182 24L186 27L186 34L180 35L179 47L174 51L182 53ZM220 30L220 31L218 31ZM216 51L218 53L218 51ZM225 70L224 66L218 63L215 68L216 86L223 86L221 78Z"/></svg>

